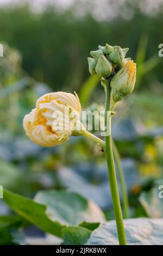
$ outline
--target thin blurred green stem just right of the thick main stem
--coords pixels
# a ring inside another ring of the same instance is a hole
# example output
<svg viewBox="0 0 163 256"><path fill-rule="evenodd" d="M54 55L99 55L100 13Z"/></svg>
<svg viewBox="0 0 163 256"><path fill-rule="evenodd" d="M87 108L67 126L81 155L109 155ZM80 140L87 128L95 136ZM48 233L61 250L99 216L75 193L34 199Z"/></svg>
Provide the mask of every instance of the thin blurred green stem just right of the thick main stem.
<svg viewBox="0 0 163 256"><path fill-rule="evenodd" d="M120 181L121 181L124 217L129 218L129 203L128 203L128 194L127 194L127 189L126 189L126 181L124 178L124 172L123 172L120 154L118 153L117 147L113 140L112 140L112 149L113 149L113 153L114 153L114 157L115 157L115 161L116 161L116 165L117 165L118 174L120 176Z"/></svg>

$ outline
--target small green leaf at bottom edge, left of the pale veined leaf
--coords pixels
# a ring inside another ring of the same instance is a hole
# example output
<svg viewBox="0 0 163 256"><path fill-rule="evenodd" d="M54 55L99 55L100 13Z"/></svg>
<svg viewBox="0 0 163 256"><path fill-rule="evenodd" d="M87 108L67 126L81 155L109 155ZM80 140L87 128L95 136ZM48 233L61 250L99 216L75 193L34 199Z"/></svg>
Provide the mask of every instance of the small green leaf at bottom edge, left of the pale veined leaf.
<svg viewBox="0 0 163 256"><path fill-rule="evenodd" d="M91 235L91 230L83 227L67 227L62 229L64 242L62 245L84 245Z"/></svg>

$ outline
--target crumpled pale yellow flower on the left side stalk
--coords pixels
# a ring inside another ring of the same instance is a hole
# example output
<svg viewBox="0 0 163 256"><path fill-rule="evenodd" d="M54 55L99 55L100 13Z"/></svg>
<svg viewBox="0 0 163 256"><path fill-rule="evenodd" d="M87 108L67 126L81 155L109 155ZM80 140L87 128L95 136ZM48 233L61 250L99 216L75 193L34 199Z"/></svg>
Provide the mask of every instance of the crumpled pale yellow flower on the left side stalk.
<svg viewBox="0 0 163 256"><path fill-rule="evenodd" d="M33 142L43 147L54 147L69 139L80 112L76 93L48 93L41 96L36 108L24 117L23 127Z"/></svg>

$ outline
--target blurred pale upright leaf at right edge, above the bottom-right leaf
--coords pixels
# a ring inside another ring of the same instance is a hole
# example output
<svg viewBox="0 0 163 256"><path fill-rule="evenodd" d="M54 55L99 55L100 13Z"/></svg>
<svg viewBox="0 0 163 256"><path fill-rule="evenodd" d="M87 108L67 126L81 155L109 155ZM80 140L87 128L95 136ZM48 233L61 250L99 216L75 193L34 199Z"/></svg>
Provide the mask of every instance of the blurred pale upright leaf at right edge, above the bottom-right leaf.
<svg viewBox="0 0 163 256"><path fill-rule="evenodd" d="M153 188L149 192L142 192L139 197L140 203L150 218L163 217L163 199L159 198L159 192L157 188Z"/></svg>

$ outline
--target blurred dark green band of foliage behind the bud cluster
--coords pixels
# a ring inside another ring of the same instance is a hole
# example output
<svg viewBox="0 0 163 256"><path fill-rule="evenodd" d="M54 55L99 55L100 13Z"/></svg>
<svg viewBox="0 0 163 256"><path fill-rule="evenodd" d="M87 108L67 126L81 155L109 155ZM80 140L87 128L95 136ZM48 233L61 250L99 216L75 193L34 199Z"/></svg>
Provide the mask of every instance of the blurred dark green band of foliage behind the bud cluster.
<svg viewBox="0 0 163 256"><path fill-rule="evenodd" d="M136 60L141 38L146 59L158 56L158 45L163 41L162 8L157 15L146 15L139 8L139 0L128 2L121 11L129 5L130 19L118 16L104 21L96 20L92 13L78 17L74 6L62 12L49 6L41 13L31 11L28 5L2 8L0 38L18 48L23 56L23 68L37 81L48 83L54 90L70 86L77 90L89 75L86 58L99 44L118 42L122 47L129 47L130 57ZM137 60L143 60L143 54L141 47ZM161 81L162 68L161 62L154 70ZM150 77L148 74L144 86Z"/></svg>

